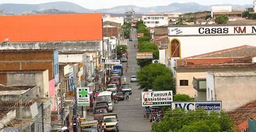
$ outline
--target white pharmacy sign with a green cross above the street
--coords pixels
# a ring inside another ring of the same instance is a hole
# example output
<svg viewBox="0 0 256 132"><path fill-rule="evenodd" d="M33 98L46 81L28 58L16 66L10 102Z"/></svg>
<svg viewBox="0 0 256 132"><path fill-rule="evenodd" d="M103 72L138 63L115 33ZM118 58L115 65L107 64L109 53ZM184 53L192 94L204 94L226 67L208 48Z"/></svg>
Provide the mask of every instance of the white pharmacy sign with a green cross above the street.
<svg viewBox="0 0 256 132"><path fill-rule="evenodd" d="M77 88L77 106L90 106L90 87Z"/></svg>

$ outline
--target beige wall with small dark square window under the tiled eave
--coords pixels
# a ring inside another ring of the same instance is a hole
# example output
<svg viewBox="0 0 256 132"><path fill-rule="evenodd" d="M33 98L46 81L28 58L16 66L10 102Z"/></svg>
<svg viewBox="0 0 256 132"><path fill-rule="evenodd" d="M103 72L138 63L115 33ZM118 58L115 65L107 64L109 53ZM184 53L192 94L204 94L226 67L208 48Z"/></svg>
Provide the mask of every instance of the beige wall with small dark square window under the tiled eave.
<svg viewBox="0 0 256 132"><path fill-rule="evenodd" d="M194 97L197 91L193 88L193 77L206 77L206 72L217 71L253 71L256 67L250 68L222 68L222 69L174 69L176 80L176 93L188 94ZM188 86L180 86L180 80L188 80Z"/></svg>

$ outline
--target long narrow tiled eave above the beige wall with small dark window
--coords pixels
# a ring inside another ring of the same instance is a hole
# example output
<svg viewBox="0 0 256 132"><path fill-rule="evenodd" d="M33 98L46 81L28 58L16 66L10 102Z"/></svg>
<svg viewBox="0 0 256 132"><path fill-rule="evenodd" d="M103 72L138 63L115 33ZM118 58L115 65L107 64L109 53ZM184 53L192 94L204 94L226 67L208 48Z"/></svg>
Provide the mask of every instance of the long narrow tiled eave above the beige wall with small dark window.
<svg viewBox="0 0 256 132"><path fill-rule="evenodd" d="M232 64L206 64L206 65L176 65L176 69L199 69L199 68L232 68L232 67L255 67L255 63L232 63Z"/></svg>

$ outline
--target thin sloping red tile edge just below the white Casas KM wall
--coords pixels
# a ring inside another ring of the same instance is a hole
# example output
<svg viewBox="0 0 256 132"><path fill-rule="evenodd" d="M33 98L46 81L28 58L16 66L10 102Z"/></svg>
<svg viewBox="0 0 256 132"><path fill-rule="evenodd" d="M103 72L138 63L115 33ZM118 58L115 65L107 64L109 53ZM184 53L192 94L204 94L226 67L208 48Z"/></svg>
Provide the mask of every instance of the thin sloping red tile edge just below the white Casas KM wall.
<svg viewBox="0 0 256 132"><path fill-rule="evenodd" d="M186 58L198 58L198 57L204 57L206 55L221 54L222 52L233 51L233 50L237 50L237 49L241 49L241 48L248 48L248 47L256 48L254 46L243 45L243 46L239 46L239 47L227 48L227 49L223 49L223 50L218 50L218 51L209 52L209 53L205 53L205 54L190 56L190 57L186 57Z"/></svg>

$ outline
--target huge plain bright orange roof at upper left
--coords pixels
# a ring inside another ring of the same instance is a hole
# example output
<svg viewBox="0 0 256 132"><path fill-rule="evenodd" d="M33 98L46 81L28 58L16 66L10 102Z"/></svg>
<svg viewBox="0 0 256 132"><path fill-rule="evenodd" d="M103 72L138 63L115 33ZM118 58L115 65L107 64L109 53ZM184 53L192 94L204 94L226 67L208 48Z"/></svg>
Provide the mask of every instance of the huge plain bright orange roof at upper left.
<svg viewBox="0 0 256 132"><path fill-rule="evenodd" d="M0 41L102 40L102 14L0 16Z"/></svg>

